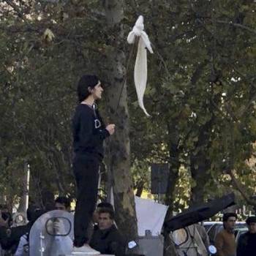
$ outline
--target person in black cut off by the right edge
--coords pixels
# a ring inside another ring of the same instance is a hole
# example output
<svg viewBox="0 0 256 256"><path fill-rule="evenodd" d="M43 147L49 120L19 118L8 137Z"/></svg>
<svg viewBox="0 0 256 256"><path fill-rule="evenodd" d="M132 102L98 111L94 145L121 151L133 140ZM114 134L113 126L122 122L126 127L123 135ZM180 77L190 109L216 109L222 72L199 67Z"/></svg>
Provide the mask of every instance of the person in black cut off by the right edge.
<svg viewBox="0 0 256 256"><path fill-rule="evenodd" d="M249 230L242 234L238 240L237 256L256 255L256 217L248 217L246 224Z"/></svg>

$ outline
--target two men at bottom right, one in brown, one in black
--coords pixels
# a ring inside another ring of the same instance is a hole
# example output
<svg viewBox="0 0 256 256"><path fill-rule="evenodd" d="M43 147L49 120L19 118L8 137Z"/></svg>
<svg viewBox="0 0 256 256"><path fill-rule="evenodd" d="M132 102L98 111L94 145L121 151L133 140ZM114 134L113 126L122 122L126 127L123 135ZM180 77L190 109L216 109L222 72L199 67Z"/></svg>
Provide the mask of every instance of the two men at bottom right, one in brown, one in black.
<svg viewBox="0 0 256 256"><path fill-rule="evenodd" d="M234 234L237 214L226 213L223 215L224 229L215 239L218 256L255 256L256 255L256 217L246 219L248 231L242 234L237 241Z"/></svg>

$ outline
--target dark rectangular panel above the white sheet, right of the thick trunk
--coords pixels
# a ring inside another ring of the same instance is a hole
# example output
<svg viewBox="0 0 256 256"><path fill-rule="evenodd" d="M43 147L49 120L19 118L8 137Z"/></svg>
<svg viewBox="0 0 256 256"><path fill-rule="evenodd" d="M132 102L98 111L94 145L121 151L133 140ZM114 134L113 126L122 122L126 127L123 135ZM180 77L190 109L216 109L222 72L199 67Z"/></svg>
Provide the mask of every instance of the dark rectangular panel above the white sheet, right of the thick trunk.
<svg viewBox="0 0 256 256"><path fill-rule="evenodd" d="M151 193L165 194L168 184L169 165L152 164L151 165Z"/></svg>

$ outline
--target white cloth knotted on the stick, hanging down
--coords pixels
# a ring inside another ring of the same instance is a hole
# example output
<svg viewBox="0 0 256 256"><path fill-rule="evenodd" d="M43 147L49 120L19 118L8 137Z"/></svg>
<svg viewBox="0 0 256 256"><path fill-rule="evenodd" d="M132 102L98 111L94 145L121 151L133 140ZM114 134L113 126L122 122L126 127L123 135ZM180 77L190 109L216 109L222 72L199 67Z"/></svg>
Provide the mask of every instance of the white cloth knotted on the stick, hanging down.
<svg viewBox="0 0 256 256"><path fill-rule="evenodd" d="M151 48L148 35L144 31L143 16L141 15L136 21L132 31L129 32L127 42L129 42L129 44L135 43L135 37L140 37L134 70L135 88L137 91L140 108L143 109L144 113L146 113L146 116L149 116L143 104L143 96L146 90L146 83L148 77L146 49L148 49L150 53L153 53L153 50Z"/></svg>

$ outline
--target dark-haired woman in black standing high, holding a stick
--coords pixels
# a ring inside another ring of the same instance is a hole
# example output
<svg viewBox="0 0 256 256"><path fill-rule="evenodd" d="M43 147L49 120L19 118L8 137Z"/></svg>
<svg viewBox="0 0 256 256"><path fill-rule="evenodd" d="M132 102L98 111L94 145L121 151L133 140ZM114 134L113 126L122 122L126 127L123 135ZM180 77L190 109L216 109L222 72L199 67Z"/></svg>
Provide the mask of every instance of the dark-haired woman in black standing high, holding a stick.
<svg viewBox="0 0 256 256"><path fill-rule="evenodd" d="M102 98L102 85L96 75L83 75L78 82L78 100L72 120L75 158L73 170L77 183L74 251L96 255L91 249L87 230L97 202L99 164L103 159L103 141L115 132L115 124L105 124L95 105Z"/></svg>

